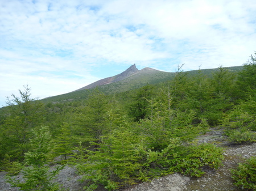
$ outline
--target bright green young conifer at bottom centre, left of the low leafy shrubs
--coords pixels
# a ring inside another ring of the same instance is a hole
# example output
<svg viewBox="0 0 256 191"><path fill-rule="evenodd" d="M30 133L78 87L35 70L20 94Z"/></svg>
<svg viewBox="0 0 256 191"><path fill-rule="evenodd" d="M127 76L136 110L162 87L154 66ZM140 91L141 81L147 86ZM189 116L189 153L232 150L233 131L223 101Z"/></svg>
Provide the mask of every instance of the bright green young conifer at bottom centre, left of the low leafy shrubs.
<svg viewBox="0 0 256 191"><path fill-rule="evenodd" d="M97 145L97 150L88 150L87 162L83 164L85 176L82 180L96 185L104 185L105 189L114 190L124 185L134 184L134 174L139 164L135 150L138 139L128 130L113 131L108 137L103 137ZM80 165L81 171L81 165ZM91 190L89 185L87 190Z"/></svg>

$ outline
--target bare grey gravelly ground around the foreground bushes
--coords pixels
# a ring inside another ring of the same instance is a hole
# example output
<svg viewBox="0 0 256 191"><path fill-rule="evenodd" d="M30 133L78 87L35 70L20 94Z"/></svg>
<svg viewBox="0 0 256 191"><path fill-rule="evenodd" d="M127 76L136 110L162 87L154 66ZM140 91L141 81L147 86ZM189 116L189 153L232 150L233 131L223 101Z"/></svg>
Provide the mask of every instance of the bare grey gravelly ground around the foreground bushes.
<svg viewBox="0 0 256 191"><path fill-rule="evenodd" d="M225 159L223 166L219 169L205 169L205 174L200 178L190 178L187 176L174 173L154 179L151 182L143 182L142 184L133 185L122 191L230 191L240 189L233 185L230 175L230 168L237 167L237 164L243 162L250 156L256 156L256 143L252 145L229 145L226 137L222 135L219 129L212 129L207 134L201 135L197 143L214 143L224 147ZM0 191L10 190L16 191L17 188L10 188L10 184L5 182L6 172L0 172ZM17 176L17 178L20 178ZM75 169L65 167L58 175L56 181L63 185L65 190L81 190L82 183L77 181L80 176L76 175ZM98 191L104 189L98 189Z"/></svg>

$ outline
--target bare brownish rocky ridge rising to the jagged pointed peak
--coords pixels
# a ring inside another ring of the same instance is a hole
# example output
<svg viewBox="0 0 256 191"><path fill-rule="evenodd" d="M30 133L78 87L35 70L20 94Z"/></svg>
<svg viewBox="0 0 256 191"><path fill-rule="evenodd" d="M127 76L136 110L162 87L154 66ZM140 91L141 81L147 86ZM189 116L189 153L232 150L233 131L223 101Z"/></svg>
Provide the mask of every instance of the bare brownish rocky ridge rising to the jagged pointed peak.
<svg viewBox="0 0 256 191"><path fill-rule="evenodd" d="M98 80L97 82L91 83L88 86L82 87L82 88L80 88L79 90L76 90L76 91L86 90L86 89L94 88L94 87L97 87L97 86L102 86L102 85L105 85L105 84L118 82L118 81L121 81L123 79L126 79L126 78L130 77L131 75L134 75L134 74L138 73L138 71L139 70L137 69L136 65L134 64L134 65L131 65L129 67L129 69L123 71L121 74L115 75L113 77Z"/></svg>

